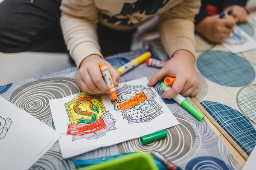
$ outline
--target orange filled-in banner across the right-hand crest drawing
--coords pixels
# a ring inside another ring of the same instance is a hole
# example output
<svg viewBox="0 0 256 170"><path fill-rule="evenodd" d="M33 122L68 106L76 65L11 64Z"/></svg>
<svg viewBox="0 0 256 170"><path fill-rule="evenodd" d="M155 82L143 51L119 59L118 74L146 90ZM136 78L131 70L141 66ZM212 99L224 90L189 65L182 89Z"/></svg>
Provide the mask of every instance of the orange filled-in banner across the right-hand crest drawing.
<svg viewBox="0 0 256 170"><path fill-rule="evenodd" d="M117 107L119 107L119 110L125 111L129 108L133 108L134 106L139 105L141 102L144 102L147 99L147 96L144 92L140 92L134 97L131 97L130 99L126 100L125 102L118 103Z"/></svg>

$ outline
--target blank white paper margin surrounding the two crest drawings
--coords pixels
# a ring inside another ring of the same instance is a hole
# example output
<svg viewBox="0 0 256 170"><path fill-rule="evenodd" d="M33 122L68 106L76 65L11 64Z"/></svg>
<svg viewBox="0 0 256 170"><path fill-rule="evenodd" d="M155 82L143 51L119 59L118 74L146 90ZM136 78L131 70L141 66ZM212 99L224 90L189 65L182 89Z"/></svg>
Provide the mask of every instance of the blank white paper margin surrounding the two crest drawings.
<svg viewBox="0 0 256 170"><path fill-rule="evenodd" d="M120 83L117 89L121 88L124 84L143 85L145 87L148 87L147 83L148 79L144 77L125 83ZM154 88L151 88L151 90L156 94L156 97L154 97L154 99L160 106L162 106L161 111L163 111L163 113L152 119L150 122L143 123L128 123L127 119L123 119L122 113L120 111L114 110L113 104L111 103L110 95L102 95L106 111L109 111L109 113L112 114L113 119L116 119L116 130L108 131L106 132L105 136L102 136L98 139L90 140L88 140L87 138L83 138L72 141L73 136L66 135L69 119L64 104L72 100L76 95L67 96L61 99L50 99L49 104L55 128L59 133L63 134L61 136L61 139L59 139L59 144L64 159L100 147L111 146L113 144L118 144L124 141L128 141L130 139L139 138L140 136L144 136L180 124L175 116L172 114L172 112L169 110L169 108L166 106L166 104L163 102L163 100L160 98L158 93L154 90Z"/></svg>

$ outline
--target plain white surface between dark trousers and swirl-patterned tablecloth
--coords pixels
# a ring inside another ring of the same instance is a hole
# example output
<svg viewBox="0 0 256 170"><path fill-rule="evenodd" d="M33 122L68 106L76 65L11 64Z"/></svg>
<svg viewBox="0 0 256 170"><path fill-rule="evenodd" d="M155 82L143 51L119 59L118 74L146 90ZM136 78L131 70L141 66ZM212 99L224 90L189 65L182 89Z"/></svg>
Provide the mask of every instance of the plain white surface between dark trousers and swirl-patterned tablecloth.
<svg viewBox="0 0 256 170"><path fill-rule="evenodd" d="M0 86L72 66L64 53L0 53Z"/></svg>

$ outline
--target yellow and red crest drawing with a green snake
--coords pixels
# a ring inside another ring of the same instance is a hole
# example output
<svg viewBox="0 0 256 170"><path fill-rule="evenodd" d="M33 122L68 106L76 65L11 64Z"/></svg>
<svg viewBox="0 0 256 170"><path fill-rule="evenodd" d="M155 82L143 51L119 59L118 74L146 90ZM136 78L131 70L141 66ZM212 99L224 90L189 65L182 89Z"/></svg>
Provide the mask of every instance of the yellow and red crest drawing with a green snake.
<svg viewBox="0 0 256 170"><path fill-rule="evenodd" d="M73 135L73 140L97 139L116 129L116 120L106 111L100 96L78 94L64 105L69 118L67 134Z"/></svg>

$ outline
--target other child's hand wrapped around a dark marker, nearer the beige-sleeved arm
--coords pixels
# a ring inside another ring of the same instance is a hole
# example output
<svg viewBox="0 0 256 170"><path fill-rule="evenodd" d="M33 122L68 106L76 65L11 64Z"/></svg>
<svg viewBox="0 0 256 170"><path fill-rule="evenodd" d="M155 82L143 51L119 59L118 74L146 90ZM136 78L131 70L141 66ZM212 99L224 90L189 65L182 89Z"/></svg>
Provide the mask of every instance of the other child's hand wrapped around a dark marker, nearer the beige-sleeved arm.
<svg viewBox="0 0 256 170"><path fill-rule="evenodd" d="M227 16L225 19L219 18L219 15L214 15L202 20L195 27L195 30L212 42L222 42L230 37L234 26L236 26L236 21L233 17Z"/></svg>

